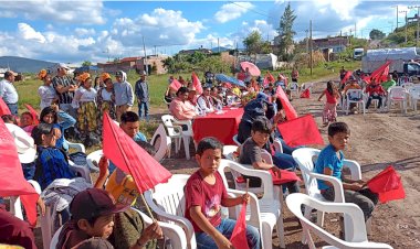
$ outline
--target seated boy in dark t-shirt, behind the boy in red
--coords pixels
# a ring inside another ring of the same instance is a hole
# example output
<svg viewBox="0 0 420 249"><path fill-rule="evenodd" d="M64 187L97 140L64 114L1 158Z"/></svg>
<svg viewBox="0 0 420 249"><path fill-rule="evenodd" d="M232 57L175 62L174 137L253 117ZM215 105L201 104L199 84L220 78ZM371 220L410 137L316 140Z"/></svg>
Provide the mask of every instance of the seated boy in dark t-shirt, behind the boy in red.
<svg viewBox="0 0 420 249"><path fill-rule="evenodd" d="M272 126L270 121L265 117L258 118L253 121L252 128L251 128L251 137L245 140L245 142L238 148L239 152L239 163L242 164L251 164L256 170L272 170L274 173L280 174L280 169L287 169L282 167L282 165L277 164L267 164L264 162L261 158L261 153L263 150L263 147L266 144L270 138L270 133L272 132ZM274 160L274 158L273 158ZM261 180L258 177L249 177L244 176L245 178L250 178L250 186L261 186ZM290 193L298 193L300 186L296 181L285 183L284 184Z"/></svg>

